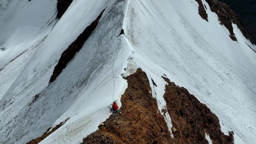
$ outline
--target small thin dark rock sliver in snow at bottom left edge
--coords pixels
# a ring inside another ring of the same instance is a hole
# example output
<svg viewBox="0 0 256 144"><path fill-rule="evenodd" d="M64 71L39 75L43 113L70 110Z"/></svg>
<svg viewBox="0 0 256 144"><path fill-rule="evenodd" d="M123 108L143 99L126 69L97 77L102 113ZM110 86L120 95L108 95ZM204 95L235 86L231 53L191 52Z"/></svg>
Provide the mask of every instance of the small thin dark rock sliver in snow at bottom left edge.
<svg viewBox="0 0 256 144"><path fill-rule="evenodd" d="M44 135L37 137L36 139L32 139L31 141L27 142L27 144L38 144L40 143L42 140L44 140L48 135L51 135L53 132L55 132L55 130L57 130L58 128L60 128L61 126L64 125L64 123L68 120L69 118L67 118L64 122L61 122L59 125L55 126L54 128L50 127L47 129L47 131L44 133ZM52 129L52 130L51 130ZM51 131L50 131L51 130Z"/></svg>

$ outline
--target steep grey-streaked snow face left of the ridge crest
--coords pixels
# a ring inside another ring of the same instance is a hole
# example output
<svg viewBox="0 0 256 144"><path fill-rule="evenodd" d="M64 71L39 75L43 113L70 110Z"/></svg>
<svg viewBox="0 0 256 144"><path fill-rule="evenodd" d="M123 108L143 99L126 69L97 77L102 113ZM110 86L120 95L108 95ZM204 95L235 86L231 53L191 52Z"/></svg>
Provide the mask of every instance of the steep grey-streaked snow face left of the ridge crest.
<svg viewBox="0 0 256 144"><path fill-rule="evenodd" d="M118 36L124 5L120 0L73 1L0 100L1 143L24 144L71 117L42 143L77 144L110 116L108 106L127 87L121 73L130 49L124 36ZM62 52L105 8L82 49L48 85Z"/></svg>

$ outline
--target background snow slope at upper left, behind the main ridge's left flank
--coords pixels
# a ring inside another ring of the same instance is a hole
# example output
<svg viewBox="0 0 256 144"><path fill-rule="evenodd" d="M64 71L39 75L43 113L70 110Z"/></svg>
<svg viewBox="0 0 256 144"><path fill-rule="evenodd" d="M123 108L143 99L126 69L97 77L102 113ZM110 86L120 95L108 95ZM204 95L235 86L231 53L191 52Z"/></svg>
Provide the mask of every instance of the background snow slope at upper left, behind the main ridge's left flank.
<svg viewBox="0 0 256 144"><path fill-rule="evenodd" d="M37 52L55 17L56 0L0 1L0 99Z"/></svg>

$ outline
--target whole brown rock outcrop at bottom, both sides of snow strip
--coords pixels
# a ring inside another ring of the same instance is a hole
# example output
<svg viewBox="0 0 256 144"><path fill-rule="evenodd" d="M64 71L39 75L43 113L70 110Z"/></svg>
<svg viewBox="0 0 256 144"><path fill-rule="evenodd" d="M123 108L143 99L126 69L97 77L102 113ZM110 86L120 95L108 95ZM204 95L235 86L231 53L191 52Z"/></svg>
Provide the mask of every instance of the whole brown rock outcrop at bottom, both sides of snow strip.
<svg viewBox="0 0 256 144"><path fill-rule="evenodd" d="M112 114L82 144L208 144L205 133L213 144L232 144L233 135L220 131L218 117L206 105L164 78L168 82L164 98L174 125L171 138L150 92L146 73L137 69L126 79L128 88L121 97L121 113Z"/></svg>

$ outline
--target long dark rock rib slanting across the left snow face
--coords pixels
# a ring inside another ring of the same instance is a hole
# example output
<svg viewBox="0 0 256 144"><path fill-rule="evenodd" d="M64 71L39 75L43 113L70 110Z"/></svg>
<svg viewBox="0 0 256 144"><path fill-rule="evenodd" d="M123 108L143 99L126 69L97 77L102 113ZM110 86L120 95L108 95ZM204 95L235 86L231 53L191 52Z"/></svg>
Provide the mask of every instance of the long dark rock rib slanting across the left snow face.
<svg viewBox="0 0 256 144"><path fill-rule="evenodd" d="M53 75L51 76L49 82L55 81L55 79L60 75L62 70L67 66L67 63L69 63L72 60L76 52L79 52L84 42L87 40L87 38L91 35L91 33L97 27L104 10L102 10L101 14L88 27L86 27L82 32L82 34L80 34L76 38L76 40L73 41L73 43L69 45L69 47L61 54L61 57L54 68Z"/></svg>

